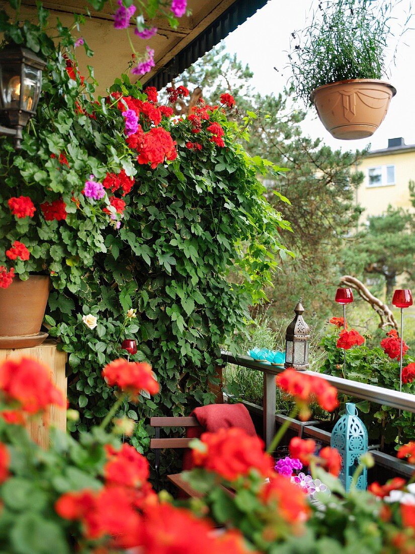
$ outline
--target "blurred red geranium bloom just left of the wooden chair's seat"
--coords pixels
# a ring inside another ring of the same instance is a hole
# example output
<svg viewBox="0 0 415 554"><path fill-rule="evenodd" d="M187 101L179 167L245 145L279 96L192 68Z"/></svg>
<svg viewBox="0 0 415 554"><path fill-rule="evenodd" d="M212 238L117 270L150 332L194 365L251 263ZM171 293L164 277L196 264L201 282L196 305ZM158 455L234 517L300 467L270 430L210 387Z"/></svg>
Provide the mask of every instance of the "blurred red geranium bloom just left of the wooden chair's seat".
<svg viewBox="0 0 415 554"><path fill-rule="evenodd" d="M146 483L150 472L145 456L126 443L119 451L110 444L105 449L108 461L103 472L108 484L138 487Z"/></svg>

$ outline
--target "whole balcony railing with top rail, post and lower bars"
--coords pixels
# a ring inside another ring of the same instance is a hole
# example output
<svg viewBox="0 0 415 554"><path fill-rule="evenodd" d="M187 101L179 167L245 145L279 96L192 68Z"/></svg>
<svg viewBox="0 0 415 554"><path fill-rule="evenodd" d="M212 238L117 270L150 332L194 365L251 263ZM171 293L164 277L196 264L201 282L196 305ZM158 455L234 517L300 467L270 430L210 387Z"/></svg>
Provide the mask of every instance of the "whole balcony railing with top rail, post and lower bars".
<svg viewBox="0 0 415 554"><path fill-rule="evenodd" d="M263 437L268 447L275 434L276 422L282 423L283 420L286 419L285 416L281 414L276 415L275 413L277 400L275 376L284 371L284 368L271 366L269 363L256 362L248 356L234 356L226 351L222 351L221 356L226 363L232 363L236 366L246 367L250 370L261 371L263 373ZM304 371L302 373L325 379L333 385L338 392L344 393L347 396L368 400L376 404L385 404L391 408L415 413L415 394L394 391L383 387L375 387L371 384L350 381L350 379L333 377L314 371ZM330 433L318 427L314 427L313 425L308 424L307 427L305 427L301 422L292 420L290 428L298 431L301 430L304 436L312 437L322 442L330 442ZM402 462L388 454L378 452L377 450L372 450L372 454L377 464L391 468L402 475L409 477L415 471L415 466Z"/></svg>

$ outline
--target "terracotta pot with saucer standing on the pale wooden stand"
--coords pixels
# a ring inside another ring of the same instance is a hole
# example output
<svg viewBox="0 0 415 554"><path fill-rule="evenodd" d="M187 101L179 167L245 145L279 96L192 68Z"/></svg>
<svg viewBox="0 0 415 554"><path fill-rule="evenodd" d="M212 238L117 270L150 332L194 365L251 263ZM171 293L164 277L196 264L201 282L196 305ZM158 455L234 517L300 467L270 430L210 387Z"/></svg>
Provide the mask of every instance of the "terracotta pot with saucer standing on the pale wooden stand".
<svg viewBox="0 0 415 554"><path fill-rule="evenodd" d="M27 281L17 277L7 289L0 289L0 348L38 346L48 337L41 333L50 279L30 275Z"/></svg>

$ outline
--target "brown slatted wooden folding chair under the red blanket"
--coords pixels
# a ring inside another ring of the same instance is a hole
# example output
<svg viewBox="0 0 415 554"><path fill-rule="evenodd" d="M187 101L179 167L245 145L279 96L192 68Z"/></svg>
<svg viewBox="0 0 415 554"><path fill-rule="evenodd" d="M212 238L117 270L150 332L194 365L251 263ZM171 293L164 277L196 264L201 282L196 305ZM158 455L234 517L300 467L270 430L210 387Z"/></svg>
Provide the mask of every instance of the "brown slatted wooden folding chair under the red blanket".
<svg viewBox="0 0 415 554"><path fill-rule="evenodd" d="M154 450L155 471L157 480L160 471L160 449L162 448L188 448L192 439L187 438L163 438L160 439L160 427L198 427L199 423L195 417L152 417L150 425L154 427L155 438L150 440L150 448ZM168 475L167 479L180 491L192 498L201 498L203 495L191 488L183 480L180 473Z"/></svg>

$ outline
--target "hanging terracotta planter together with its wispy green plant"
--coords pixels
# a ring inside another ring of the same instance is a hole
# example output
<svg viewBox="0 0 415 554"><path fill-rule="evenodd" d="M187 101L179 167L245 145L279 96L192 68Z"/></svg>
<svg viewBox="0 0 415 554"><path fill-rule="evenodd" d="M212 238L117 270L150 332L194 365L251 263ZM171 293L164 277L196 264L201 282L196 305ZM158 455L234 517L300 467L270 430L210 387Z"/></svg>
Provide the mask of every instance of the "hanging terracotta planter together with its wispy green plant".
<svg viewBox="0 0 415 554"><path fill-rule="evenodd" d="M388 65L392 9L393 2L320 2L298 42L293 33L289 59L294 88L306 105L314 104L323 125L337 139L371 136L396 94L381 80Z"/></svg>

